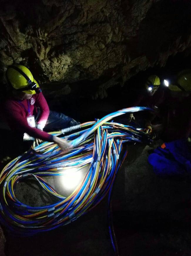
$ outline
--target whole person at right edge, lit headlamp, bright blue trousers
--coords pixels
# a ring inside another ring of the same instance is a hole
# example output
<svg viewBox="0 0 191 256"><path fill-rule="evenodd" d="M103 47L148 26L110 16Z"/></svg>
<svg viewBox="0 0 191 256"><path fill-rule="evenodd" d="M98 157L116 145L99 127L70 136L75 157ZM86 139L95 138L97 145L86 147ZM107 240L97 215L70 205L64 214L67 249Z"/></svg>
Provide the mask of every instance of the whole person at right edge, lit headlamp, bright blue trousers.
<svg viewBox="0 0 191 256"><path fill-rule="evenodd" d="M191 172L191 69L186 69L171 79L165 79L169 89L161 106L164 141L148 157L148 162L158 175L183 175Z"/></svg>

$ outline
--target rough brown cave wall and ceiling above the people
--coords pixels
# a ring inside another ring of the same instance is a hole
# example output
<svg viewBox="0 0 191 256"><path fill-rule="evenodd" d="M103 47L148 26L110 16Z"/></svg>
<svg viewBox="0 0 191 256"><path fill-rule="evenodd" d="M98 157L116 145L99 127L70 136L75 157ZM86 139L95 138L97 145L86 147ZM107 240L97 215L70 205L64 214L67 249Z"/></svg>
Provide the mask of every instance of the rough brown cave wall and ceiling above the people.
<svg viewBox="0 0 191 256"><path fill-rule="evenodd" d="M106 97L109 87L189 52L190 11L186 0L3 0L1 83L16 62L42 87L54 85L53 94L89 81L92 98Z"/></svg>

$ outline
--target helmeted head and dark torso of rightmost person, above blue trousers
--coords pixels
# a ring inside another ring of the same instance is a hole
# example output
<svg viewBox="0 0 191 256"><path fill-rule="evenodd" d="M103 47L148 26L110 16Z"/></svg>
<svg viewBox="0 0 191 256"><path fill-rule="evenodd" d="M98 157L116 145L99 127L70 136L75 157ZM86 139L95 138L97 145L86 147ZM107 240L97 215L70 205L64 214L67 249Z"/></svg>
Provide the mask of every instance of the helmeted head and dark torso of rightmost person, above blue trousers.
<svg viewBox="0 0 191 256"><path fill-rule="evenodd" d="M174 79L166 79L168 91L161 107L164 141L190 136L191 131L191 69L180 71Z"/></svg>

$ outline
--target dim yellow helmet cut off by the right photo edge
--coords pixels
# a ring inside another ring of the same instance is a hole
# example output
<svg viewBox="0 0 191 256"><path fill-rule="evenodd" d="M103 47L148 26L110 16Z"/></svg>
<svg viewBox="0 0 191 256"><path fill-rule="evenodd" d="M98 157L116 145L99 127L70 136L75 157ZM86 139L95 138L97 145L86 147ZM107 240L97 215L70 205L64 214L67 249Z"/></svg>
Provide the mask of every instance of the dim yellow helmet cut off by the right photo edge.
<svg viewBox="0 0 191 256"><path fill-rule="evenodd" d="M191 92L191 69L179 72L176 82L170 83L168 88L173 92Z"/></svg>

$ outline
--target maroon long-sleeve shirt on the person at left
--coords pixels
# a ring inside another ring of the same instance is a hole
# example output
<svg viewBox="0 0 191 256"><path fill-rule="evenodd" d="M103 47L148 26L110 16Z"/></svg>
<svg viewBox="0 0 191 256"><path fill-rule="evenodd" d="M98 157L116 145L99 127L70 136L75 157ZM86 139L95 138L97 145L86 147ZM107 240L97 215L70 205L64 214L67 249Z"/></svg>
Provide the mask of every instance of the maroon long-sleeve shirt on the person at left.
<svg viewBox="0 0 191 256"><path fill-rule="evenodd" d="M52 141L52 135L28 125L27 117L30 115L28 107L30 107L31 115L36 112L36 107L39 107L41 115L37 123L46 123L50 111L42 92L33 94L30 100L19 101L13 98L6 99L1 106L1 115L12 130L28 133L30 136L43 141Z"/></svg>

